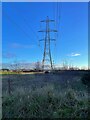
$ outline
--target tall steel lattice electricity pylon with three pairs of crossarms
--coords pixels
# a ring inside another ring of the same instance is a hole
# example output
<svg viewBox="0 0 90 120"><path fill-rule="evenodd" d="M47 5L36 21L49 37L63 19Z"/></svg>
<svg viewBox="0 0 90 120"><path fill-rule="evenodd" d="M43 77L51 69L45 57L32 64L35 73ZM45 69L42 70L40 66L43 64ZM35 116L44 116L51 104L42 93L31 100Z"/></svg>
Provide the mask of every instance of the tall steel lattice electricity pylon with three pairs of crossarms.
<svg viewBox="0 0 90 120"><path fill-rule="evenodd" d="M40 41L44 40L44 53L43 53L43 60L42 60L42 69L53 69L52 57L51 57L51 49L50 43L51 41L55 41L55 39L51 39L50 32L57 32L57 30L50 29L49 23L55 22L54 20L50 20L47 16L46 20L42 20L40 22L46 23L46 29L40 30L39 32L45 32L45 38L41 39Z"/></svg>

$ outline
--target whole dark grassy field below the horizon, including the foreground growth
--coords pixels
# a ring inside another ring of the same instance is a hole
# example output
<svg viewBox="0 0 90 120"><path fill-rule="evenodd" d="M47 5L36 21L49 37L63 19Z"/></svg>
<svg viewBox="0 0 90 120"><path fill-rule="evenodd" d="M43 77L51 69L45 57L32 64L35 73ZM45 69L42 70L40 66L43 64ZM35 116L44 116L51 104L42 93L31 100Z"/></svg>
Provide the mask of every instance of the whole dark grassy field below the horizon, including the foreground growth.
<svg viewBox="0 0 90 120"><path fill-rule="evenodd" d="M88 91L81 81L84 73L4 74L3 118L87 119Z"/></svg>

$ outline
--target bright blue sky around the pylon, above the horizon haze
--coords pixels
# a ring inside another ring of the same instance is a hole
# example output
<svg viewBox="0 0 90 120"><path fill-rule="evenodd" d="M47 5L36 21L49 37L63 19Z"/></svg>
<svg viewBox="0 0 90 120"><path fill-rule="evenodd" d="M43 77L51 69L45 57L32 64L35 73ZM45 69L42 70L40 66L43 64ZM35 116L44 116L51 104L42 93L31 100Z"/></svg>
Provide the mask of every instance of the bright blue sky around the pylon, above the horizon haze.
<svg viewBox="0 0 90 120"><path fill-rule="evenodd" d="M62 2L58 3L58 10L56 6L52 2L3 3L3 63L42 61L44 44L38 44L43 35L38 31L45 27L40 20L49 16L58 22L58 37L51 43L54 63L67 61L74 66L87 66L88 3ZM50 27L54 29L54 24ZM55 38L54 34L51 36Z"/></svg>

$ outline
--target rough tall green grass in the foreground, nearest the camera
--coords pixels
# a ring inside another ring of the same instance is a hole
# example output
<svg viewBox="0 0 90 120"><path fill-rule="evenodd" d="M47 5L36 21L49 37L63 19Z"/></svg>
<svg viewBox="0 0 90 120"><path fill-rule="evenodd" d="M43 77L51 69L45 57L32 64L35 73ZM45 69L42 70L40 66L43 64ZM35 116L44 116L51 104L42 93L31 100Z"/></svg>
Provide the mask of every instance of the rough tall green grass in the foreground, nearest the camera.
<svg viewBox="0 0 90 120"><path fill-rule="evenodd" d="M87 118L88 100L73 89L58 92L53 86L35 91L16 90L3 98L4 118ZM82 97L80 99L79 97Z"/></svg>

